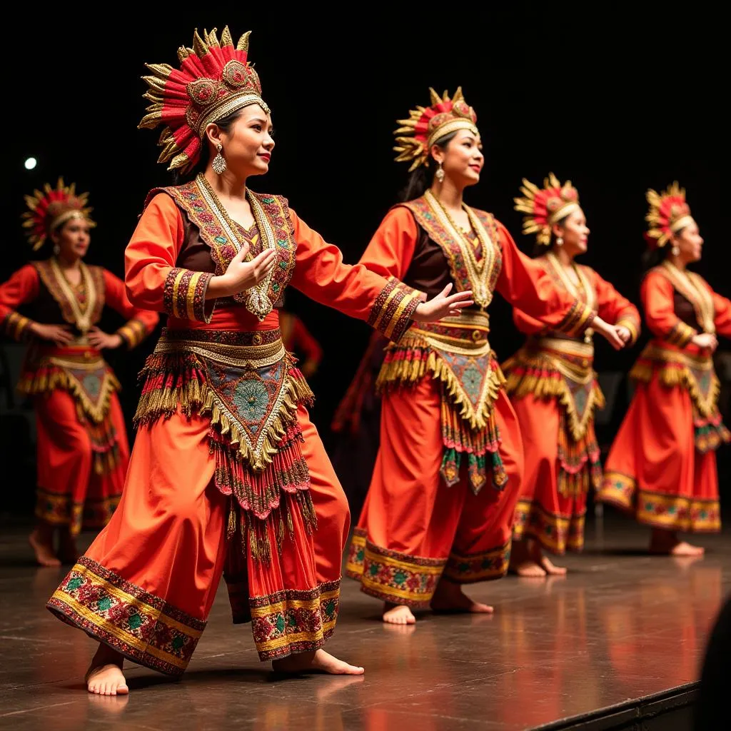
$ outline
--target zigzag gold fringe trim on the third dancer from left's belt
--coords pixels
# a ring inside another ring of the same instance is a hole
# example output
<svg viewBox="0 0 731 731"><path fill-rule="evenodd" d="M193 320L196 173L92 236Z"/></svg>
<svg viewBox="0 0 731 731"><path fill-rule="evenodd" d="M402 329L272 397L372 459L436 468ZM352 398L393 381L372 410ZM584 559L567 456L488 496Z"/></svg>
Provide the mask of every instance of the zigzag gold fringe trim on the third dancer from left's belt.
<svg viewBox="0 0 731 731"><path fill-rule="evenodd" d="M426 374L431 374L433 379L444 384L450 401L460 409L459 416L469 424L472 430L480 430L488 426L493 404L505 385L505 376L497 363L491 363L486 393L480 400L480 406L475 410L457 374L452 371L446 361L442 360L442 357L439 357L439 352L436 352L425 338L407 334L401 338L398 346L390 350L391 352L394 350L409 352L412 357L387 360L376 379L376 390L413 385L423 379ZM494 361L495 353L491 350L488 352L491 361ZM475 355L475 357L478 356Z"/></svg>

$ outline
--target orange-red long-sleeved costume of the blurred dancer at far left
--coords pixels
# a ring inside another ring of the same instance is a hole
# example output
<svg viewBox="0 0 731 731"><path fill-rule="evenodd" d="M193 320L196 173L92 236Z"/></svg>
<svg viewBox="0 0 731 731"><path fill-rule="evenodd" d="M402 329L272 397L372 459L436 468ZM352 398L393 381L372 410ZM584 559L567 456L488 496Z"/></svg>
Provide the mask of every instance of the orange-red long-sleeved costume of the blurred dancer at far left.
<svg viewBox="0 0 731 731"><path fill-rule="evenodd" d="M55 260L33 262L0 284L0 321L18 341L34 321L72 325L68 346L34 340L18 384L34 397L37 423L36 515L56 526L99 529L117 506L129 461L124 417L112 369L77 328L76 312L96 325L110 306L128 319L117 330L133 348L154 330L158 316L132 306L124 282L101 267L82 265L79 287L63 279ZM72 303L70 298L77 301ZM31 317L17 308L27 306Z"/></svg>

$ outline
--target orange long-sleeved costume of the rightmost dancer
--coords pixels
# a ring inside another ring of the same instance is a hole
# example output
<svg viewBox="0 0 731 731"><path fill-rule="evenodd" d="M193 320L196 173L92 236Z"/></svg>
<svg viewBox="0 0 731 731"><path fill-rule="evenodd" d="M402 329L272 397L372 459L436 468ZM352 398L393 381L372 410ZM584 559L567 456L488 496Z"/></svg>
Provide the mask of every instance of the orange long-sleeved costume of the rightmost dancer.
<svg viewBox="0 0 731 731"><path fill-rule="evenodd" d="M641 289L654 339L630 371L636 390L607 457L599 499L640 523L719 531L716 448L730 439L718 409L719 379L697 333L731 336L731 302L670 262Z"/></svg>

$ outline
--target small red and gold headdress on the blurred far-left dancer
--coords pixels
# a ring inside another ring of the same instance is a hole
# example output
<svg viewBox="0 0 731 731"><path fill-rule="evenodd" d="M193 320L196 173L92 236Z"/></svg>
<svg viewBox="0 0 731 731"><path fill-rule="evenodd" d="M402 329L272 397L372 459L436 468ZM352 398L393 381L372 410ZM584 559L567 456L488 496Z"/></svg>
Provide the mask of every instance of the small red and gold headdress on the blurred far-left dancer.
<svg viewBox="0 0 731 731"><path fill-rule="evenodd" d="M28 240L37 251L43 246L51 231L71 219L85 219L90 227L96 226L89 218L88 193L77 193L75 183L64 186L64 178L58 178L56 188L46 183L43 190L26 195L29 210L23 213L23 228Z"/></svg>

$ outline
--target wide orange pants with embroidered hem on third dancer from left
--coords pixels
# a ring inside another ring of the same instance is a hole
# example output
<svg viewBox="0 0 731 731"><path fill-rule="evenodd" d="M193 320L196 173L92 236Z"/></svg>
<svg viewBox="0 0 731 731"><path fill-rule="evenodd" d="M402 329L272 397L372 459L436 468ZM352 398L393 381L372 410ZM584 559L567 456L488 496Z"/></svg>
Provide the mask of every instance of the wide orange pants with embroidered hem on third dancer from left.
<svg viewBox="0 0 731 731"><path fill-rule="evenodd" d="M442 464L439 385L427 376L383 395L381 445L350 545L347 574L385 602L427 605L441 578L455 583L507 572L523 447L515 412L501 391L495 403L500 455L509 476L475 495L466 479L447 487Z"/></svg>

